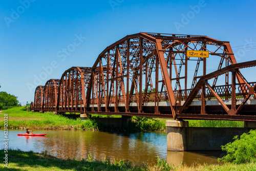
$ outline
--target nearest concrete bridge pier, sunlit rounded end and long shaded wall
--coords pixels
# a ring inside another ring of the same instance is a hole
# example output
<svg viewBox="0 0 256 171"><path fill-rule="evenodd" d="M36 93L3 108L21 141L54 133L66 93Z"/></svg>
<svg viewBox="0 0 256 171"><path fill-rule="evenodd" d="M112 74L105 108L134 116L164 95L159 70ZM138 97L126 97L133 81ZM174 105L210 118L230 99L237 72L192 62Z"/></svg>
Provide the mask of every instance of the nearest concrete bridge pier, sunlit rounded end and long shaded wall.
<svg viewBox="0 0 256 171"><path fill-rule="evenodd" d="M188 121L167 120L167 151L221 151L221 145L233 142L256 129L256 122L244 127L188 127Z"/></svg>

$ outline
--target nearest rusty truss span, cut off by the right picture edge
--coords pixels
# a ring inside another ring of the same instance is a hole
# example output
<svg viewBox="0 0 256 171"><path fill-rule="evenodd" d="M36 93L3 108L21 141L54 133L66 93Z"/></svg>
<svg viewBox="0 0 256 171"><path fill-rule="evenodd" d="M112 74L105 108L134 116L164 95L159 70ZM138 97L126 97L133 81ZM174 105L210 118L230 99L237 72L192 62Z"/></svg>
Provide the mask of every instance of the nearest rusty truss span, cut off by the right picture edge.
<svg viewBox="0 0 256 171"><path fill-rule="evenodd" d="M209 73L207 75L202 76L199 81L197 82L195 88L191 90L189 96L186 98L184 104L181 106L180 110L178 111L177 118L182 119L227 119L227 120L250 120L255 121L255 113L248 112L248 111L241 111L245 106L246 102L249 99L256 98L256 82L244 82L244 83L236 83L236 78L243 78L239 69L241 68L248 68L256 66L256 60L236 63L229 65L228 67L222 68L218 71ZM227 86L216 86L212 87L208 80L212 78L216 78L220 75L227 74L228 72L231 73L231 84ZM202 92L202 87L204 87L204 92ZM205 88L206 87L206 88ZM209 113L201 113L198 114L191 114L189 109L189 105L195 99L200 100L218 100L221 109L219 111L208 111ZM225 100L231 100L231 105L227 105ZM237 100L242 100L241 104L237 104ZM214 114L214 115L208 115Z"/></svg>

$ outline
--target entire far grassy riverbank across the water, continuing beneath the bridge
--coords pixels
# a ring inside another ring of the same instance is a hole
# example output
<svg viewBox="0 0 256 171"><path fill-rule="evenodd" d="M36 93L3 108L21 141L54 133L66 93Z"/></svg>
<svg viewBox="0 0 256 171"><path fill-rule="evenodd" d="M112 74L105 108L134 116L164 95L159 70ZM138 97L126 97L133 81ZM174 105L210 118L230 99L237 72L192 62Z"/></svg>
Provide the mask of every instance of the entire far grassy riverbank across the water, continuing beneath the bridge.
<svg viewBox="0 0 256 171"><path fill-rule="evenodd" d="M110 115L92 115L91 119L81 121L79 114L77 118L69 118L53 114L53 112L27 112L26 106L15 107L0 113L0 121L4 120L4 114L8 114L9 129L40 129L40 130L100 130L100 131L166 131L165 121L169 119L133 117L129 125L125 127L105 126L94 120L93 117L120 117ZM73 114L74 115L74 114ZM244 127L242 121L222 120L189 120L189 126L193 127ZM4 122L0 123L0 128Z"/></svg>

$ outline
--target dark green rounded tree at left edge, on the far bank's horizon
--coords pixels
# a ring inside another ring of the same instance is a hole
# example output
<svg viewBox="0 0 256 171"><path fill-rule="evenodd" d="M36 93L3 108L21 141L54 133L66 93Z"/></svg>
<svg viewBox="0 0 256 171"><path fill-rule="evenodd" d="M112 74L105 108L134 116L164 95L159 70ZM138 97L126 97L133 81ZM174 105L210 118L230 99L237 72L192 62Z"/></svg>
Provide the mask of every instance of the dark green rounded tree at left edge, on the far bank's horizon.
<svg viewBox="0 0 256 171"><path fill-rule="evenodd" d="M10 95L6 92L0 92L0 110L6 110L17 105L18 100L16 96Z"/></svg>

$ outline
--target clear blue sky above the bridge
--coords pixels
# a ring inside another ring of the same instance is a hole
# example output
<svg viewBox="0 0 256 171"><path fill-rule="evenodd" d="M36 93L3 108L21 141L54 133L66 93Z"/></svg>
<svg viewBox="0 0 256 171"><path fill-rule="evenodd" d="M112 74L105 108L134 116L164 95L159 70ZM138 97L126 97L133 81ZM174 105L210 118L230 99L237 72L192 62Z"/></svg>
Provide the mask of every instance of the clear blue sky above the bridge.
<svg viewBox="0 0 256 171"><path fill-rule="evenodd" d="M105 47L138 32L207 35L230 41L238 62L254 60L255 16L252 0L3 1L0 91L30 103L39 84L73 66L91 67Z"/></svg>

